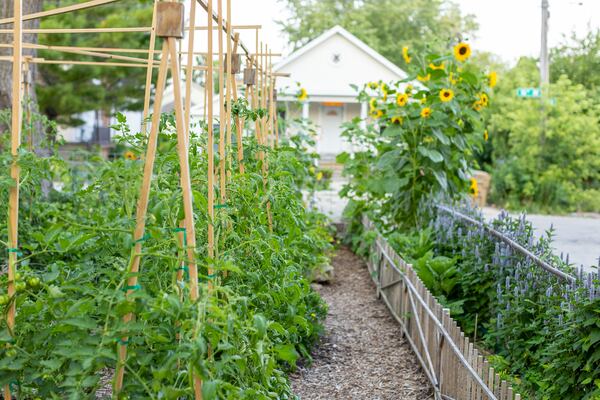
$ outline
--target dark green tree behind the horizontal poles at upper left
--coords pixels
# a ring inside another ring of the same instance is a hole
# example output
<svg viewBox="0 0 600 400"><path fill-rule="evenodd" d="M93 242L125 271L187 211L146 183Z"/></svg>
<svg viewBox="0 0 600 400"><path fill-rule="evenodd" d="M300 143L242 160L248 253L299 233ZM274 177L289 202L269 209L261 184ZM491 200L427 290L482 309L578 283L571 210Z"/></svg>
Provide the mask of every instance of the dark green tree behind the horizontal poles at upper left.
<svg viewBox="0 0 600 400"><path fill-rule="evenodd" d="M79 0L56 0L52 8L78 3ZM118 2L88 10L45 18L43 28L140 27L152 22L152 0ZM147 49L147 33L43 34L40 43L53 46L119 47ZM53 60L107 61L57 51L40 51L40 56ZM129 54L146 59L147 54ZM105 66L40 66L41 80L37 94L40 110L62 124L78 125L75 116L84 111L100 111L104 117L113 110L143 108L146 69Z"/></svg>

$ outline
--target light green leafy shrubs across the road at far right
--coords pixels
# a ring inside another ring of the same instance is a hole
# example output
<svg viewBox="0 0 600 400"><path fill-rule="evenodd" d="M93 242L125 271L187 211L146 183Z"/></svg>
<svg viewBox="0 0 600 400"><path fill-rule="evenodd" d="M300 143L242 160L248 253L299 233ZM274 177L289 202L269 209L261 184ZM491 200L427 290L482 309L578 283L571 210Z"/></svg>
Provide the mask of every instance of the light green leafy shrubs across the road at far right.
<svg viewBox="0 0 600 400"><path fill-rule="evenodd" d="M565 76L545 100L516 97L517 87L537 80L535 62L522 59L499 84L490 110L491 201L529 211L599 211L600 104Z"/></svg>

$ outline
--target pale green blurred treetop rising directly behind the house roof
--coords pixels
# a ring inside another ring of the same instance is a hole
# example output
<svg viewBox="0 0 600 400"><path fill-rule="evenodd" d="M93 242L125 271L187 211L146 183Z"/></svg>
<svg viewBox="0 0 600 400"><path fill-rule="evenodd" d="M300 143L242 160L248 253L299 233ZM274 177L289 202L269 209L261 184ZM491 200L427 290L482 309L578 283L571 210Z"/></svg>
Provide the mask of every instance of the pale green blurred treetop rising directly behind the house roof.
<svg viewBox="0 0 600 400"><path fill-rule="evenodd" d="M294 49L335 25L341 25L397 65L402 46L415 53L447 47L448 41L473 33L472 15L462 16L449 0L280 0L291 18L278 21Z"/></svg>

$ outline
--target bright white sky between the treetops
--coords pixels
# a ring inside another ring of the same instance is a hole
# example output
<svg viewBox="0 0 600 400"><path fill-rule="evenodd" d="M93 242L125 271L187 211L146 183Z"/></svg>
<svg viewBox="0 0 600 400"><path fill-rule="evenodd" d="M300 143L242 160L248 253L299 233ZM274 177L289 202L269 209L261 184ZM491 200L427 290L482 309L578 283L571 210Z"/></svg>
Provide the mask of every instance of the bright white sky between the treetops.
<svg viewBox="0 0 600 400"><path fill-rule="evenodd" d="M477 50L491 51L513 64L520 56L538 56L540 52L541 0L454 0L465 14L474 14L477 37L471 39ZM215 1L216 3L216 1ZM225 3L225 2L224 2ZM550 47L561 44L564 35L575 31L583 36L600 28L600 0L549 0ZM262 25L261 40L274 51L289 53L285 35L275 20L285 19L286 10L277 0L232 0L234 24ZM245 32L242 41L254 47L254 33Z"/></svg>

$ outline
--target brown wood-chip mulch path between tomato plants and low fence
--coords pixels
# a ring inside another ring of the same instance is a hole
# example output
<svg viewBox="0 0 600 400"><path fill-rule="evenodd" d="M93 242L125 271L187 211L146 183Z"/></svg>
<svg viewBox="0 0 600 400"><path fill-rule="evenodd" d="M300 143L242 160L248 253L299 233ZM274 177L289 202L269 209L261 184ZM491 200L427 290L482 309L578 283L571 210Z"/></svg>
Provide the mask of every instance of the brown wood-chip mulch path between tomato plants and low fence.
<svg viewBox="0 0 600 400"><path fill-rule="evenodd" d="M414 399L433 395L397 322L376 296L364 262L342 247L330 284L315 284L329 304L313 364L291 376L301 400Z"/></svg>

